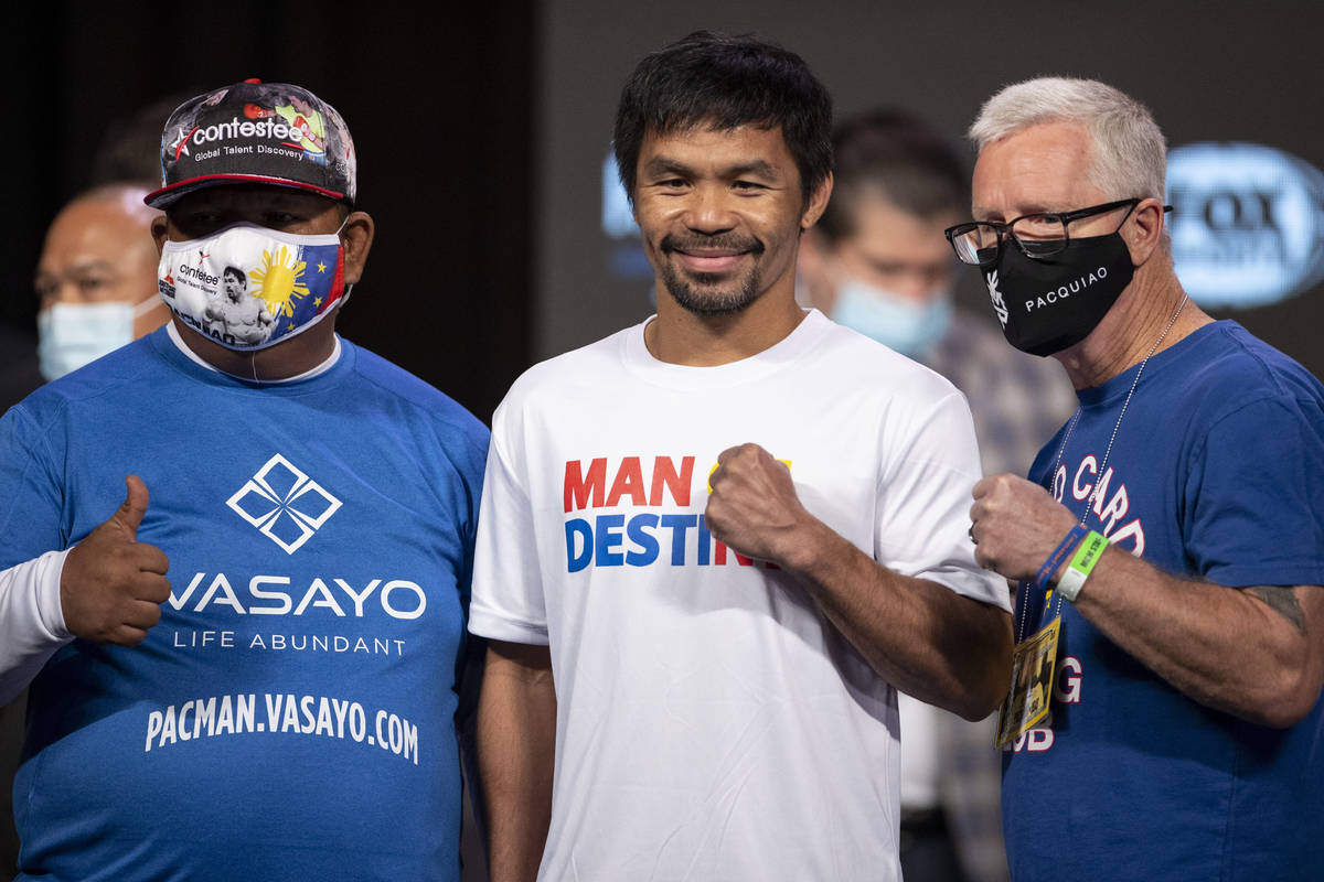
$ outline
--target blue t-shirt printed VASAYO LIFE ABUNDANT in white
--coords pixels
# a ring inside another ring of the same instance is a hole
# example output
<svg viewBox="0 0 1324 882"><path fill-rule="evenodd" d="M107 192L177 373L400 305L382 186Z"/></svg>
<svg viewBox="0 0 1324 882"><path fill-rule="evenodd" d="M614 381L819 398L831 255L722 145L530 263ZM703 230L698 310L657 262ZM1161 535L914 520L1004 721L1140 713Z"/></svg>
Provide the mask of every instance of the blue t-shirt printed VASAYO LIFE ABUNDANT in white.
<svg viewBox="0 0 1324 882"><path fill-rule="evenodd" d="M487 430L343 342L250 383L166 331L0 421L0 567L139 475L172 596L33 681L20 878L458 879L454 717Z"/></svg>

